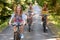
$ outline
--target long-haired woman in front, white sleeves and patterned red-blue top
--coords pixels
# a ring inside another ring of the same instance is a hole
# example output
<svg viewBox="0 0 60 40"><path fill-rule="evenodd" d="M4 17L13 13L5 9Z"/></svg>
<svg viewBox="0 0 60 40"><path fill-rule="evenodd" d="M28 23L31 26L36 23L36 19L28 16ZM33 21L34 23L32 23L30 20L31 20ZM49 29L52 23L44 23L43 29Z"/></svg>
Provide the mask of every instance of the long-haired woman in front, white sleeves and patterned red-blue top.
<svg viewBox="0 0 60 40"><path fill-rule="evenodd" d="M12 17L13 16L13 17ZM24 19L24 15L23 15L23 12L22 12L22 7L20 5L17 5L15 7L15 12L14 12L14 15L12 15L10 21L9 21L9 24L11 24L11 22L13 21L14 22L14 32L16 32L16 25L17 23L22 23L22 25L20 26L20 33L21 33L21 38L24 38L24 35L23 35L23 28L24 28L24 22L25 22L25 19Z"/></svg>

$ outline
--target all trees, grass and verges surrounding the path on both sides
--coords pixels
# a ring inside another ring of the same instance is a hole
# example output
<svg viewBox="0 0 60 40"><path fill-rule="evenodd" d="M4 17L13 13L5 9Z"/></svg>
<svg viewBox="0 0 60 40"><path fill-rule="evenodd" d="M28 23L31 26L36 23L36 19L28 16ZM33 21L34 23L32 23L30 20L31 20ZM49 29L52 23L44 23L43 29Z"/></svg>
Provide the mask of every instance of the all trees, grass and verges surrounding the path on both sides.
<svg viewBox="0 0 60 40"><path fill-rule="evenodd" d="M7 27L15 4L20 3L25 11L28 4L31 2L34 5L35 1L40 7L43 7L44 2L48 4L50 14L48 16L48 26L53 33L60 36L60 0L0 0L0 32Z"/></svg>

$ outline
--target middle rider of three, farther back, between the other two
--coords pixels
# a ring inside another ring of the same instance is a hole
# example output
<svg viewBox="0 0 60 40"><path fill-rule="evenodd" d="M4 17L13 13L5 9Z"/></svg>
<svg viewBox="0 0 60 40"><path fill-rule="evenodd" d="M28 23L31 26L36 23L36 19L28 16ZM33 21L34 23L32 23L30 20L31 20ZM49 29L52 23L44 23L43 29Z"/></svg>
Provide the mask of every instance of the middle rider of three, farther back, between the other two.
<svg viewBox="0 0 60 40"><path fill-rule="evenodd" d="M31 26L32 21L33 21L33 8L32 8L32 3L29 4L29 8L27 11L27 24Z"/></svg>

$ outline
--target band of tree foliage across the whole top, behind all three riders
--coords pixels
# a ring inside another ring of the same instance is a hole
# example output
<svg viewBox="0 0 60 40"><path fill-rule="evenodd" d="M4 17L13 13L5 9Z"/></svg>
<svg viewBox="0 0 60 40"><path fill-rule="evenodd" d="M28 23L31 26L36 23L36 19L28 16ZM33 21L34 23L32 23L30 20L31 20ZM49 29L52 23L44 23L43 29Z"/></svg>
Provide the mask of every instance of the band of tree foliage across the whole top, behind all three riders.
<svg viewBox="0 0 60 40"><path fill-rule="evenodd" d="M60 15L60 0L0 0L0 20L1 22L4 22L4 20L9 18L14 4L20 4L23 7L23 10L25 10L29 3L37 3L40 6L43 6L44 1L47 1L48 3L48 9L51 10L51 12L56 12L56 15ZM57 5L59 3L59 5ZM0 22L0 23L1 23Z"/></svg>

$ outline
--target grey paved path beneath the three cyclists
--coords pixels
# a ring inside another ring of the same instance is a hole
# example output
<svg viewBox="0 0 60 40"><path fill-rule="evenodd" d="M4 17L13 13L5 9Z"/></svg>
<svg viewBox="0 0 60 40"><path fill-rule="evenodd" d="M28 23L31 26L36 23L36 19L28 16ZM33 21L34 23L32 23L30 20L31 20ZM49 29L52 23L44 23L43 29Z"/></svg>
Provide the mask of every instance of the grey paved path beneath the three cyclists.
<svg viewBox="0 0 60 40"><path fill-rule="evenodd" d="M36 14L33 17L32 28L33 31L27 31L28 26L24 28L24 39L22 40L56 40L52 38L53 34L48 29L47 33L43 32L41 16ZM13 27L7 27L2 33L0 33L0 40L13 40Z"/></svg>

